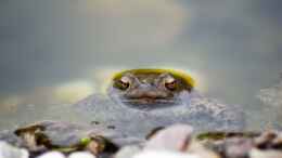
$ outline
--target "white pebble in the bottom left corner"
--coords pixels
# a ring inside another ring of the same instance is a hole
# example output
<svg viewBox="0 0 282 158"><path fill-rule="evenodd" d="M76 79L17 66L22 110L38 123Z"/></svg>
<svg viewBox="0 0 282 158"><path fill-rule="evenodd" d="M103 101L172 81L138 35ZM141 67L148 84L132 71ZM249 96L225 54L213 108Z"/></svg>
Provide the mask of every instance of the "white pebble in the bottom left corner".
<svg viewBox="0 0 282 158"><path fill-rule="evenodd" d="M26 149L16 148L5 142L0 142L0 158L28 158Z"/></svg>

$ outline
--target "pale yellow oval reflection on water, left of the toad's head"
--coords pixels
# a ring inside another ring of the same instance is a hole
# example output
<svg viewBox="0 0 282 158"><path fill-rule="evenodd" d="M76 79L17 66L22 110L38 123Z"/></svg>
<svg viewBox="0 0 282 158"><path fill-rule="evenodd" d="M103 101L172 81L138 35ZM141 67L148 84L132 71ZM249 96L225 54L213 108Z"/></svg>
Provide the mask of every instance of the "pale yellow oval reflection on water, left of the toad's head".
<svg viewBox="0 0 282 158"><path fill-rule="evenodd" d="M74 81L59 85L55 97L62 103L76 103L94 92L94 85L88 81Z"/></svg>

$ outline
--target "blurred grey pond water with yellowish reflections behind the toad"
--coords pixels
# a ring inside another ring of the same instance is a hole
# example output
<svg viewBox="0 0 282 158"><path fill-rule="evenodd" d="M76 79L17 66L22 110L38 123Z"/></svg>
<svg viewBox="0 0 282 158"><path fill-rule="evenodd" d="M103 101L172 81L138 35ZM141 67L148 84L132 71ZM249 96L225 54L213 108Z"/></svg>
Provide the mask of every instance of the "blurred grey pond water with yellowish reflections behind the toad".
<svg viewBox="0 0 282 158"><path fill-rule="evenodd" d="M176 68L246 111L282 121L280 0L0 1L0 129L77 121L72 104L125 68ZM259 98L261 97L261 100Z"/></svg>

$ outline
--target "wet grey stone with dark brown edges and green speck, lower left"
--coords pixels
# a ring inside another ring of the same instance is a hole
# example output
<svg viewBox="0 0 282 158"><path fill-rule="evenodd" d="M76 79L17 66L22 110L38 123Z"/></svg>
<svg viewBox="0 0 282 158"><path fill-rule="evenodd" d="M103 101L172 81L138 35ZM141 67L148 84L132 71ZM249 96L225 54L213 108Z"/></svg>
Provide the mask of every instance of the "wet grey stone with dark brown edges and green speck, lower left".
<svg viewBox="0 0 282 158"><path fill-rule="evenodd" d="M41 121L10 133L10 135L9 133L3 134L10 137L5 140L12 143L21 142L21 146L27 148L33 157L49 150L63 154L88 150L97 156L104 153L114 154L118 150L118 145L101 135L103 131L82 124ZM14 144L16 145L16 143Z"/></svg>

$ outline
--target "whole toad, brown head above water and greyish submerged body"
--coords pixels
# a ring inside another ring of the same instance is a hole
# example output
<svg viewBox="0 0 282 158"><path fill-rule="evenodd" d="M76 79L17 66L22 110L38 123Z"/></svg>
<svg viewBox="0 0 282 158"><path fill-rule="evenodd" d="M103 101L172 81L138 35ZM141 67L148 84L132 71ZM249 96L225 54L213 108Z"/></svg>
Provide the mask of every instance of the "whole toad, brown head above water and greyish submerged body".
<svg viewBox="0 0 282 158"><path fill-rule="evenodd" d="M114 76L107 95L93 94L75 106L95 122L114 126L126 135L144 135L157 127L189 123L196 131L238 131L240 108L201 96L194 80L167 69L131 69Z"/></svg>

